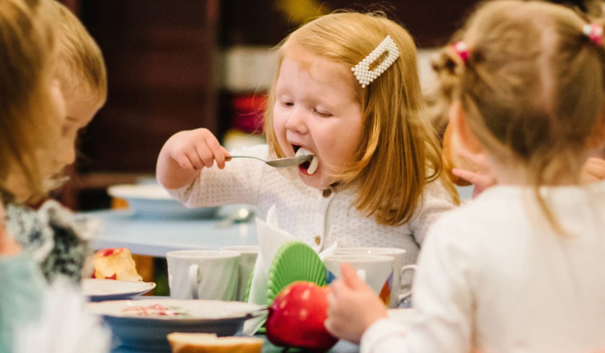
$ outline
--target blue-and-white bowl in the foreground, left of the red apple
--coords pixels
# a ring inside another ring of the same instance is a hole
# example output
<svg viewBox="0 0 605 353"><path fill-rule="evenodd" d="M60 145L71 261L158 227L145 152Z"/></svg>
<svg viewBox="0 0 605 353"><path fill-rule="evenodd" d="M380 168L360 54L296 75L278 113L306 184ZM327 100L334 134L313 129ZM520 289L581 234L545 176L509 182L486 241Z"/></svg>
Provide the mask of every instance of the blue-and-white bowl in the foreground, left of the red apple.
<svg viewBox="0 0 605 353"><path fill-rule="evenodd" d="M154 313L151 308L156 305L168 308L169 313L175 315ZM134 311L136 308L148 308L152 313L137 314ZM166 335L170 332L234 335L241 331L247 319L260 315L264 307L221 300L145 299L89 303L88 309L103 316L122 347L141 351L169 351Z"/></svg>

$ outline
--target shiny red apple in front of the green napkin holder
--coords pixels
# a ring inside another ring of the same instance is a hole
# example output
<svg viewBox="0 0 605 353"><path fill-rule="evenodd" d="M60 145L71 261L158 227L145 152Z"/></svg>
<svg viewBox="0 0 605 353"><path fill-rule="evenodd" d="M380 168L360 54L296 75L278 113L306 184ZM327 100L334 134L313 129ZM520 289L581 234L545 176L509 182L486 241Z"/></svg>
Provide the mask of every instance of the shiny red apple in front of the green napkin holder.
<svg viewBox="0 0 605 353"><path fill-rule="evenodd" d="M276 346L330 349L338 338L325 329L330 287L294 282L275 297L267 317L267 338Z"/></svg>

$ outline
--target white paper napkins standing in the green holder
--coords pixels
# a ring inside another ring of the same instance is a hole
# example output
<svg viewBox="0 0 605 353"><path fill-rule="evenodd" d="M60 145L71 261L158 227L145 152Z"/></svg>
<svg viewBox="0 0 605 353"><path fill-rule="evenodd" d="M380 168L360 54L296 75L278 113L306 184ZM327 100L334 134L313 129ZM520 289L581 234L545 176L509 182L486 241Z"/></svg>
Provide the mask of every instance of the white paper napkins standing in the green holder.
<svg viewBox="0 0 605 353"><path fill-rule="evenodd" d="M248 302L267 305L267 282L269 280L269 269L273 262L273 257L280 248L287 242L297 241L295 236L283 229L280 229L277 220L277 212L273 205L267 212L267 221L257 218L258 235L258 257L254 265L252 274L252 283L250 283L250 293ZM324 257L332 254L336 248L336 243L319 253L319 258L323 261ZM258 317L248 320L244 324L244 334L253 335L263 325L266 317Z"/></svg>

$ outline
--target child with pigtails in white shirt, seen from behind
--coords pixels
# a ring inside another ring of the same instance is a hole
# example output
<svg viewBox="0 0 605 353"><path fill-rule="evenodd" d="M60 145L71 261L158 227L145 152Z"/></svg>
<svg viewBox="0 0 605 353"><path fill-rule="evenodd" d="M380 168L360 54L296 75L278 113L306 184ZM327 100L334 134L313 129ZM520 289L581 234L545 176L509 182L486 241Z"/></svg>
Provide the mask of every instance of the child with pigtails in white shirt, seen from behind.
<svg viewBox="0 0 605 353"><path fill-rule="evenodd" d="M486 2L435 69L450 124L499 184L431 227L410 325L387 319L347 265L325 326L362 352L605 349L605 182L581 184L603 143L603 27L560 5Z"/></svg>

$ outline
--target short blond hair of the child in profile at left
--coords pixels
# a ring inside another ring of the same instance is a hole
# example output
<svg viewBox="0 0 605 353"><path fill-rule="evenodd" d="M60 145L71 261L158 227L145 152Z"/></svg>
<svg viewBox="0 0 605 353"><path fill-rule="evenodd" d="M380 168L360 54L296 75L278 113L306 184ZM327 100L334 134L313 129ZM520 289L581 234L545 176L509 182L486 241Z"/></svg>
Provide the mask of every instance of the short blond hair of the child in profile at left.
<svg viewBox="0 0 605 353"><path fill-rule="evenodd" d="M99 45L71 11L58 1L56 8L59 27L59 80L65 96L84 91L93 102L105 103L107 75Z"/></svg>

